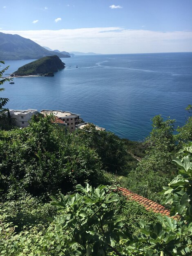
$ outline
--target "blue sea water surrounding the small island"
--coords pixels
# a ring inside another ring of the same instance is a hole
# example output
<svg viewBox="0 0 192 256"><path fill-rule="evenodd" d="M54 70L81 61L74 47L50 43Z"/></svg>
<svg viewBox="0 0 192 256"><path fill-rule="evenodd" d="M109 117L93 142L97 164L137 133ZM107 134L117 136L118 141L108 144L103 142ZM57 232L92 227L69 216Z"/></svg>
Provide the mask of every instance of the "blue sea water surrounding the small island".
<svg viewBox="0 0 192 256"><path fill-rule="evenodd" d="M6 61L6 73L32 60ZM161 114L185 123L192 104L192 53L115 54L63 58L54 77L14 78L4 83L7 108L78 113L120 137L143 140L151 118ZM78 66L78 68L76 67Z"/></svg>

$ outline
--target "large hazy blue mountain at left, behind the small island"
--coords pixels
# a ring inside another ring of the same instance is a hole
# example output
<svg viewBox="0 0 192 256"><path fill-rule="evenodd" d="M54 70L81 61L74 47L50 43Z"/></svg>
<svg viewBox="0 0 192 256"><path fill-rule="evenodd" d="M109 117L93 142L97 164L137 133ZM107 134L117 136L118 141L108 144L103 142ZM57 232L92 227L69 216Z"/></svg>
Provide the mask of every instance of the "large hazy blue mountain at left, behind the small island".
<svg viewBox="0 0 192 256"><path fill-rule="evenodd" d="M0 32L0 60L38 59L55 55L30 39L19 35ZM67 54L57 53L60 58L69 58Z"/></svg>

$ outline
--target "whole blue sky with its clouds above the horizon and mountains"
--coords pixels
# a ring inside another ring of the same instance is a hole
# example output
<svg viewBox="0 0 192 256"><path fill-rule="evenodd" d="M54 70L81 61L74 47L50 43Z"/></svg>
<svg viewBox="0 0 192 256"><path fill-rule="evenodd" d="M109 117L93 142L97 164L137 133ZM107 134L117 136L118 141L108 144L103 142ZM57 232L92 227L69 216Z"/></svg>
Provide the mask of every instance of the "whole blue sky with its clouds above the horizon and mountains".
<svg viewBox="0 0 192 256"><path fill-rule="evenodd" d="M192 0L0 0L0 32L67 52L192 52Z"/></svg>

